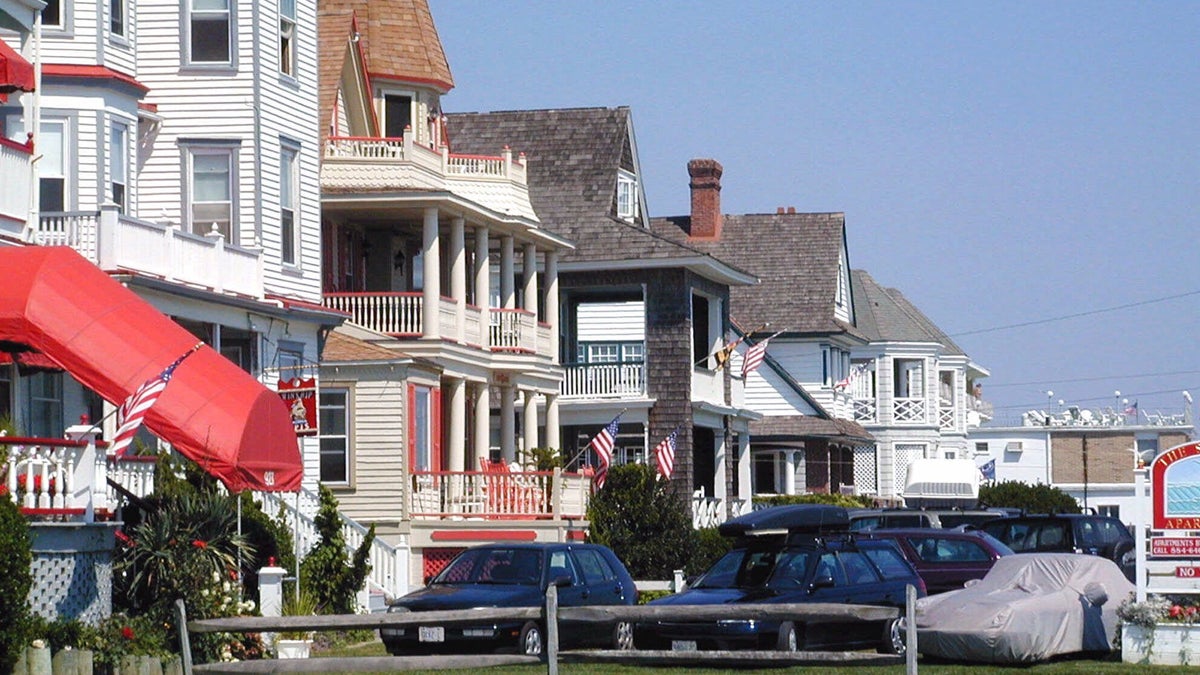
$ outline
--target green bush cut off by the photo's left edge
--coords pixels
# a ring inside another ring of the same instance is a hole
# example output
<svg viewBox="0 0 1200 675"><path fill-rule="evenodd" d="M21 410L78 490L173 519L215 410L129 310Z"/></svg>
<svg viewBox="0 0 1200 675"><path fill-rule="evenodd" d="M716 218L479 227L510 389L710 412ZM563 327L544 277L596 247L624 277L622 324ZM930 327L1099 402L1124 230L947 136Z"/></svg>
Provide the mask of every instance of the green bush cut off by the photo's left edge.
<svg viewBox="0 0 1200 675"><path fill-rule="evenodd" d="M29 632L29 590L34 563L29 522L7 494L0 494L0 673L17 663Z"/></svg>

